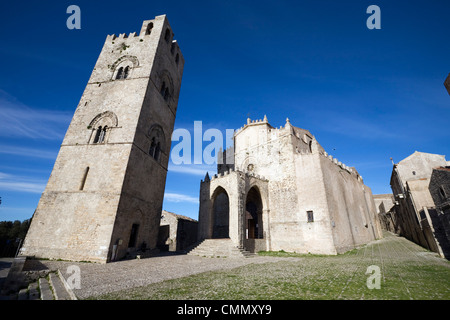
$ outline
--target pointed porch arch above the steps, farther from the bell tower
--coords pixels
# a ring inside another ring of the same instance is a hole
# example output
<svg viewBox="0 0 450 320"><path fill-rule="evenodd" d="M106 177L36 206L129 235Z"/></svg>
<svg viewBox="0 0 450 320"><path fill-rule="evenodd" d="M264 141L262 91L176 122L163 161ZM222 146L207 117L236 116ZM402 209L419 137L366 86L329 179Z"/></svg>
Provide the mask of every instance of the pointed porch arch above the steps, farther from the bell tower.
<svg viewBox="0 0 450 320"><path fill-rule="evenodd" d="M245 229L246 239L263 239L263 205L261 194L257 187L252 187L245 200Z"/></svg>

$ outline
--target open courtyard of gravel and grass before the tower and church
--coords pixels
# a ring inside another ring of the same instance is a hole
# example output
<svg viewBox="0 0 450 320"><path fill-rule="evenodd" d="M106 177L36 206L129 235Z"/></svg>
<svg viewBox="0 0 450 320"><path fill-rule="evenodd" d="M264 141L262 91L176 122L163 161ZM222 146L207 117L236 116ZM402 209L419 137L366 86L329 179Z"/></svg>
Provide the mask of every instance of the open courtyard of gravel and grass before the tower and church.
<svg viewBox="0 0 450 320"><path fill-rule="evenodd" d="M73 262L35 260L27 270ZM385 232L385 237L337 256L260 253L252 258L165 255L110 264L75 263L79 299L450 299L450 264ZM380 289L368 289L369 266Z"/></svg>

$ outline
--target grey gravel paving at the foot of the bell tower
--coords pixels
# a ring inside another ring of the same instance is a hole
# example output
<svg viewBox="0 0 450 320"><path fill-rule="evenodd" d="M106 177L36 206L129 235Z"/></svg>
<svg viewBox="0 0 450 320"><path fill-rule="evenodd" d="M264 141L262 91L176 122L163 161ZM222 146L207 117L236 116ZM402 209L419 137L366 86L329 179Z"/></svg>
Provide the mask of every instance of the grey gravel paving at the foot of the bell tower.
<svg viewBox="0 0 450 320"><path fill-rule="evenodd" d="M252 258L204 258L190 255L167 255L141 260L126 260L108 264L77 263L66 261L27 261L27 270L56 270L68 279L72 273L67 268L72 265L80 267L80 289L73 290L77 297L85 299L90 296L110 293L123 289L145 286L164 280L182 278L206 271L227 270L248 264L260 264L286 258L255 256ZM299 258L289 258L290 261Z"/></svg>

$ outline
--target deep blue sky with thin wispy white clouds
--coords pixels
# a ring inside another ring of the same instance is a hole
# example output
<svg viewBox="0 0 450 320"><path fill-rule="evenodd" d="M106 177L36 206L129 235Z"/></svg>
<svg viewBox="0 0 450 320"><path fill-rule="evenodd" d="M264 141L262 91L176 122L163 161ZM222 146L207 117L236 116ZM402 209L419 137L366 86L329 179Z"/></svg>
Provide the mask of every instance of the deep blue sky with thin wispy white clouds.
<svg viewBox="0 0 450 320"><path fill-rule="evenodd" d="M81 30L66 27L71 4ZM2 1L0 221L32 216L106 35L160 14L186 60L176 128L289 117L374 194L390 192L390 157L450 160L450 1ZM164 209L197 218L214 167L171 164Z"/></svg>

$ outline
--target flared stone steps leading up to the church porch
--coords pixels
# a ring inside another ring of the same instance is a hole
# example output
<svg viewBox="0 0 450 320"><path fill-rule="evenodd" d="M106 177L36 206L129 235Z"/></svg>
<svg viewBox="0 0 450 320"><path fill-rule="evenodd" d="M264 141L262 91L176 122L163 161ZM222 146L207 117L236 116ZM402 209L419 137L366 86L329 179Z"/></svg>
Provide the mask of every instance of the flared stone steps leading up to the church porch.
<svg viewBox="0 0 450 320"><path fill-rule="evenodd" d="M254 256L245 249L238 248L231 239L205 239L194 249L189 251L188 255L201 257L228 257L228 258L250 258Z"/></svg>

